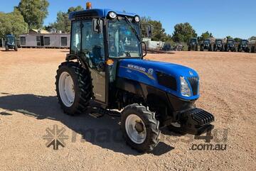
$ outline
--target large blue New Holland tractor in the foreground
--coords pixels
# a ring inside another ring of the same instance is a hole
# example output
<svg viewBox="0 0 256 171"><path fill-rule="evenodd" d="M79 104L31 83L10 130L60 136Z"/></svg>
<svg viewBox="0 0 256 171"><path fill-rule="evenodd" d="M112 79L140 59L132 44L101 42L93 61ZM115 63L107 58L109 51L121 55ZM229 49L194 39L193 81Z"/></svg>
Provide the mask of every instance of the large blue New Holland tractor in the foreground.
<svg viewBox="0 0 256 171"><path fill-rule="evenodd" d="M143 59L146 45L137 14L87 4L69 17L70 54L55 77L64 113L82 114L96 104L122 111L124 139L141 153L156 147L164 126L195 135L213 128L214 116L195 105L200 96L195 70ZM146 28L151 35L151 26Z"/></svg>

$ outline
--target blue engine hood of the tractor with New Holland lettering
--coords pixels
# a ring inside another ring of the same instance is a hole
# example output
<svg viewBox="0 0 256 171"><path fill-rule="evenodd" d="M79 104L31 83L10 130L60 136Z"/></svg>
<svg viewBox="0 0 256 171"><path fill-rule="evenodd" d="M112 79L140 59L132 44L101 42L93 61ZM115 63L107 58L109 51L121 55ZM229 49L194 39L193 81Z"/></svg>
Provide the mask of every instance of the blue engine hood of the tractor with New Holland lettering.
<svg viewBox="0 0 256 171"><path fill-rule="evenodd" d="M161 72L163 74L174 77L177 84L176 91L159 84L157 81L156 72ZM118 76L126 79L132 79L134 81L147 84L151 87L156 87L163 90L164 92L168 92L182 99L191 100L199 98L199 93L189 97L181 95L180 77L184 77L187 82L188 77L198 77L198 74L195 70L192 70L189 67L184 67L182 65L176 65L167 62L157 62L152 60L124 59L119 61ZM188 85L191 88L189 82Z"/></svg>

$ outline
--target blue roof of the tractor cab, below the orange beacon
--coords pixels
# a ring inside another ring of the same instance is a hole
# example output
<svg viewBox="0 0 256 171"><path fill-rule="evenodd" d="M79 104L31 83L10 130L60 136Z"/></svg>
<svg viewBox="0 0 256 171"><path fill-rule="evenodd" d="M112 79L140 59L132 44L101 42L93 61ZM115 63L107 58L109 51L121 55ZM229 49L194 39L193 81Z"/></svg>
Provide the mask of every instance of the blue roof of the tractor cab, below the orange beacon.
<svg viewBox="0 0 256 171"><path fill-rule="evenodd" d="M117 16L136 16L135 13L126 13L120 11L114 11L112 9L87 9L84 11L75 11L70 13L69 19L72 20L74 18L83 18L83 17L90 17L90 18L105 18L108 13L110 12L117 13Z"/></svg>

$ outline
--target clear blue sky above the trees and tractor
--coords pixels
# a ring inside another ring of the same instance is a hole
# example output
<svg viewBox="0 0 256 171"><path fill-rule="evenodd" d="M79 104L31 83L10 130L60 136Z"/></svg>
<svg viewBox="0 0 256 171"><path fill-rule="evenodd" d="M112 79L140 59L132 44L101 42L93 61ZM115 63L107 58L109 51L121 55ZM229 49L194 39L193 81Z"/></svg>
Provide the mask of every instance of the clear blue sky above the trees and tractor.
<svg viewBox="0 0 256 171"><path fill-rule="evenodd" d="M85 6L86 0L48 0L49 16L44 23L52 23L58 11L67 11L70 6ZM19 0L1 2L0 11L11 12ZM216 38L227 35L250 38L256 35L255 0L91 0L93 8L138 13L161 21L166 33L173 33L176 23L189 22L201 35L210 31Z"/></svg>

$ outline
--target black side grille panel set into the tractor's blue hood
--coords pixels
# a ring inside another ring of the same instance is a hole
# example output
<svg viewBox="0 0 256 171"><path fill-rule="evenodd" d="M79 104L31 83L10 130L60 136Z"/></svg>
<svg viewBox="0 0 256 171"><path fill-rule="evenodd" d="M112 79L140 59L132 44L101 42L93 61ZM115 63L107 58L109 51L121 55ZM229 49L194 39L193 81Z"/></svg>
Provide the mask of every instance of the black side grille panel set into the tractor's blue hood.
<svg viewBox="0 0 256 171"><path fill-rule="evenodd" d="M169 89L173 89L174 91L177 90L177 83L175 77L172 77L171 75L166 75L162 72L156 72L156 75L157 81L160 85L168 87Z"/></svg>

